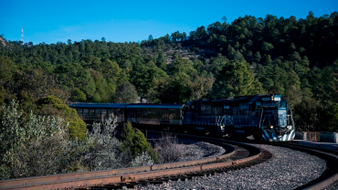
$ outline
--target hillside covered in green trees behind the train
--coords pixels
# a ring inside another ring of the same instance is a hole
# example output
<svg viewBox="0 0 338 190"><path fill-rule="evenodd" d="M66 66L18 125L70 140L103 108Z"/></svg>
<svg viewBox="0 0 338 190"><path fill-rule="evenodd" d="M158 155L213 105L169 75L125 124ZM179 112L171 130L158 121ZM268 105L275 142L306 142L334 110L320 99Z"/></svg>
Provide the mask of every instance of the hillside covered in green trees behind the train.
<svg viewBox="0 0 338 190"><path fill-rule="evenodd" d="M285 96L299 129L338 131L338 13L239 17L141 43L0 43L0 102ZM26 102L26 104L25 104ZM28 103L29 102L29 103Z"/></svg>

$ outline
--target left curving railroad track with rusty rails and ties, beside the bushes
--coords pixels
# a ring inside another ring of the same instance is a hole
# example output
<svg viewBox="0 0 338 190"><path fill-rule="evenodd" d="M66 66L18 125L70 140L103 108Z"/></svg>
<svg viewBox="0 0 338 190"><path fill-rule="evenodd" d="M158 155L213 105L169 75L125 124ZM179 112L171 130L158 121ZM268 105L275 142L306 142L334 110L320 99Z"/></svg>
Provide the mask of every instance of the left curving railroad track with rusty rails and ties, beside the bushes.
<svg viewBox="0 0 338 190"><path fill-rule="evenodd" d="M113 169L74 174L0 181L0 189L116 189L164 183L169 180L188 180L195 176L211 175L259 164L271 154L243 142L233 142L193 135L177 134L180 138L211 142L223 146L227 152L220 156L171 164Z"/></svg>

